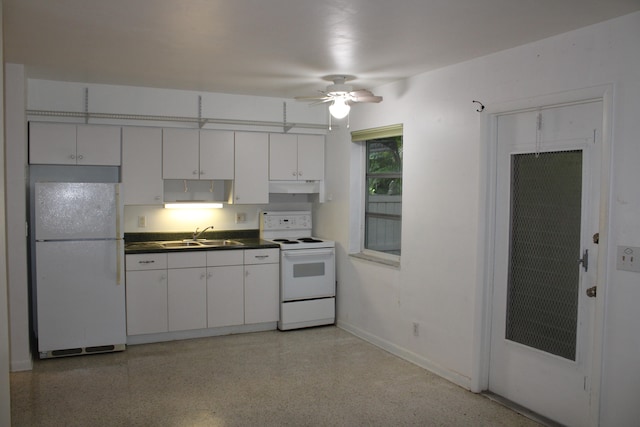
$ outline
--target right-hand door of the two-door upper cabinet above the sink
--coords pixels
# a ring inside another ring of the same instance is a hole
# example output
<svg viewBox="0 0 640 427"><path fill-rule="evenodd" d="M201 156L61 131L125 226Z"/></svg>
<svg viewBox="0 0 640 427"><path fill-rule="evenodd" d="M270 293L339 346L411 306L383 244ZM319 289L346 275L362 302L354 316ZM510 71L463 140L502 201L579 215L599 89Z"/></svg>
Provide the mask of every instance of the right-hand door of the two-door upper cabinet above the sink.
<svg viewBox="0 0 640 427"><path fill-rule="evenodd" d="M233 179L234 133L200 131L200 179Z"/></svg>

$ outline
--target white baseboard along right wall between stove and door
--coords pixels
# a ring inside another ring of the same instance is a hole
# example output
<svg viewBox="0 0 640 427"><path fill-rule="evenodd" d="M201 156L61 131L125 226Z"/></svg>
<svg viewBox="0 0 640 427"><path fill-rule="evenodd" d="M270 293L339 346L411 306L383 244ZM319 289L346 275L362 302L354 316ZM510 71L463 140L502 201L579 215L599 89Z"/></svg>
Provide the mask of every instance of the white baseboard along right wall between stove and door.
<svg viewBox="0 0 640 427"><path fill-rule="evenodd" d="M406 348L400 347L390 341L382 339L376 335L370 334L369 332L363 331L362 329L341 320L336 322L336 326L340 329L344 329L345 331L352 333L353 335L362 338L363 340L375 345L376 347L380 347L381 349L388 351L394 356L398 356L401 359L406 360L407 362L411 362L414 365L418 365L421 368L426 369L429 372L432 372L439 377L442 377L452 383L459 385L462 388L467 390L471 390L471 378L466 377L457 372L452 372L448 369L443 368L437 363L432 362L431 360L422 357Z"/></svg>

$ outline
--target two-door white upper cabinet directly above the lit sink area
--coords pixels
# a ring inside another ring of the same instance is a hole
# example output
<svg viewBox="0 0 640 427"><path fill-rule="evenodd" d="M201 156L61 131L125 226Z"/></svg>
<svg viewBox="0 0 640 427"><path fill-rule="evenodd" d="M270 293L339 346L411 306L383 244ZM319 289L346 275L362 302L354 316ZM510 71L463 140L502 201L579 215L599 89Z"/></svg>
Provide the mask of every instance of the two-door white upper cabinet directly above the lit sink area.
<svg viewBox="0 0 640 427"><path fill-rule="evenodd" d="M233 179L232 131L172 129L162 131L164 179Z"/></svg>

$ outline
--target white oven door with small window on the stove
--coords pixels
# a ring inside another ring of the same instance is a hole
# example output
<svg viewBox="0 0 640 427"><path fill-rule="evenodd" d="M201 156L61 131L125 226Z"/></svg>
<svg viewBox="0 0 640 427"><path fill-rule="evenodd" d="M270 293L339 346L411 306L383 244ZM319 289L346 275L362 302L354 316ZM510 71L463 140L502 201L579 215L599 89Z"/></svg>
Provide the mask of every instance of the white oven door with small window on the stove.
<svg viewBox="0 0 640 427"><path fill-rule="evenodd" d="M335 296L335 249L280 251L282 301Z"/></svg>

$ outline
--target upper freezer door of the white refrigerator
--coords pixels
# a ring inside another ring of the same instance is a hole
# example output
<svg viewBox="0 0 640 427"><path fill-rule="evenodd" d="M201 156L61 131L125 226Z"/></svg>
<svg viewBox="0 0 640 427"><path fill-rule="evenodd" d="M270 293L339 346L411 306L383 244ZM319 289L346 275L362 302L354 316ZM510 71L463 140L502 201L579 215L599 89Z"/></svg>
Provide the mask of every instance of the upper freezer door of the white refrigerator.
<svg viewBox="0 0 640 427"><path fill-rule="evenodd" d="M36 240L122 238L119 190L111 183L37 182Z"/></svg>

